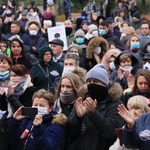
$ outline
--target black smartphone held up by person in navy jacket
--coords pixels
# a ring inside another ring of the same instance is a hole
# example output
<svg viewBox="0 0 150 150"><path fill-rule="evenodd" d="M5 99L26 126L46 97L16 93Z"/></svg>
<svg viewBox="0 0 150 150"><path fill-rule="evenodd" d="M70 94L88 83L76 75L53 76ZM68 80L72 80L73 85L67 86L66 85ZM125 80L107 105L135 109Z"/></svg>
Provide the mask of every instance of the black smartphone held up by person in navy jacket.
<svg viewBox="0 0 150 150"><path fill-rule="evenodd" d="M38 114L38 109L33 107L23 107L22 115L26 117L35 117Z"/></svg>

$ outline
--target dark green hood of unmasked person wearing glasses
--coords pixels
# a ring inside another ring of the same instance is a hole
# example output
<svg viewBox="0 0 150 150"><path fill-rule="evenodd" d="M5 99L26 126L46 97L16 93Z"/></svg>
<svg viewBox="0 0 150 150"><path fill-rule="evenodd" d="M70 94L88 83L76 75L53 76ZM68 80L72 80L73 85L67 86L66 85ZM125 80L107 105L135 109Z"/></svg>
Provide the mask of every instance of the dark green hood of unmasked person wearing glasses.
<svg viewBox="0 0 150 150"><path fill-rule="evenodd" d="M52 52L52 49L48 46L48 45L45 45L45 46L42 46L40 49L39 49L39 62L40 63L44 63L43 61L43 55L45 54L45 52L51 52L52 54L52 58L53 58L53 52ZM51 61L52 61L52 58L51 58ZM50 62L51 62L50 61Z"/></svg>

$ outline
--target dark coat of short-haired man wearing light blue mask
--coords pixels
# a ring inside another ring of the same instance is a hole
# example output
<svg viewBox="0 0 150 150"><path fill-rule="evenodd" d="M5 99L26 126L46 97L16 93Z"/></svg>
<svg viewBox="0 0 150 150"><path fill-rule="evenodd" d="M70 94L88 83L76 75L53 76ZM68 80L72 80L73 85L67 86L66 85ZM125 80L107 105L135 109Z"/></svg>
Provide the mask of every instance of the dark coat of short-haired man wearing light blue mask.
<svg viewBox="0 0 150 150"><path fill-rule="evenodd" d="M104 39L107 40L107 42L113 42L115 43L116 47L120 50L125 50L125 45L123 45L117 36L115 36L112 31L108 30L108 33L102 36Z"/></svg>

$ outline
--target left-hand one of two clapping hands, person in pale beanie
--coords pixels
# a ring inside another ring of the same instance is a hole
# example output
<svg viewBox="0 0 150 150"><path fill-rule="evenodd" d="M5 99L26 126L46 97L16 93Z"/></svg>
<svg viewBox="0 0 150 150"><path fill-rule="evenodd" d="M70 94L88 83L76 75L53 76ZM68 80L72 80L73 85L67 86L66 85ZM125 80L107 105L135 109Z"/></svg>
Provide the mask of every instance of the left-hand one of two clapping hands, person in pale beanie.
<svg viewBox="0 0 150 150"><path fill-rule="evenodd" d="M76 113L79 118L82 118L86 113L86 104L82 101L82 97L76 100Z"/></svg>

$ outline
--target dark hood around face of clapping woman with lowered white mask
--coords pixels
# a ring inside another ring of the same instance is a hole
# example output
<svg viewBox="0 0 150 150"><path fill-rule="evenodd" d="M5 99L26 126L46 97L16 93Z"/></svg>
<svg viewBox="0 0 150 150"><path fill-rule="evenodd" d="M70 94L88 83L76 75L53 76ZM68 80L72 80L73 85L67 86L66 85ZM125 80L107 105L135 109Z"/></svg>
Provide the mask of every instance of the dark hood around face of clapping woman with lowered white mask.
<svg viewBox="0 0 150 150"><path fill-rule="evenodd" d="M124 50L120 53L120 55L117 56L117 58L115 59L114 63L116 68L119 68L119 58L122 54L128 53L132 56L132 66L136 66L139 63L139 60L137 58L137 56L130 50Z"/></svg>

